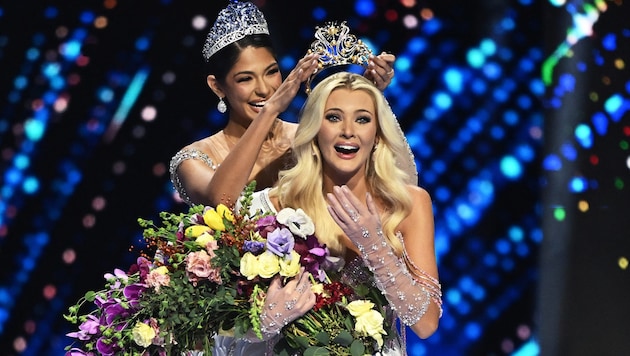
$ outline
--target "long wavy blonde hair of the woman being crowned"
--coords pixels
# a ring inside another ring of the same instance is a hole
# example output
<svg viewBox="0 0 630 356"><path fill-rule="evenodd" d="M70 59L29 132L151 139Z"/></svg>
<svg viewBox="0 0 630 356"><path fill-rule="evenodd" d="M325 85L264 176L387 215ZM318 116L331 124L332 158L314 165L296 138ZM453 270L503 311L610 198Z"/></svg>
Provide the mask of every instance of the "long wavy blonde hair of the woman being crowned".
<svg viewBox="0 0 630 356"><path fill-rule="evenodd" d="M397 157L408 155L406 141L401 137L396 118L383 94L363 76L340 72L320 82L309 94L300 114L293 144L295 165L279 174L278 185L270 195L277 196L281 207L301 208L315 222L315 233L336 256L343 256L343 231L326 209L323 191L322 156L316 144L324 118L324 108L333 90L362 90L372 99L377 112L377 141L372 159L366 166L368 190L382 207L383 233L395 253L402 253L396 228L411 211L411 199L406 188L408 175L396 165ZM359 197L363 198L363 197Z"/></svg>

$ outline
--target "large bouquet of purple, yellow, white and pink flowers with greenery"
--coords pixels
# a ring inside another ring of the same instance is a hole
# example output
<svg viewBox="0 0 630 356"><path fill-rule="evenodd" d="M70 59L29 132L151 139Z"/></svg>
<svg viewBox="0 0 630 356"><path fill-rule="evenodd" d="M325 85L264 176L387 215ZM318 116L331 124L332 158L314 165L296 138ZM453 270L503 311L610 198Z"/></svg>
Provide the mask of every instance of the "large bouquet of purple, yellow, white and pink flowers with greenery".
<svg viewBox="0 0 630 356"><path fill-rule="evenodd" d="M291 278L302 267L311 273L317 305L283 329L276 350L317 355L378 351L387 335L378 290L351 289L331 279L336 274L326 271L328 249L319 244L314 224L302 210L250 213L254 187L255 182L246 188L238 210L220 204L216 209L194 206L188 213L162 212L160 226L138 219L155 256L142 255L127 271L105 274L102 290L87 292L69 308L64 317L78 330L68 334L74 342L66 355L178 355L190 350L211 355L212 335L240 338L253 330L260 337L259 317L272 278Z"/></svg>

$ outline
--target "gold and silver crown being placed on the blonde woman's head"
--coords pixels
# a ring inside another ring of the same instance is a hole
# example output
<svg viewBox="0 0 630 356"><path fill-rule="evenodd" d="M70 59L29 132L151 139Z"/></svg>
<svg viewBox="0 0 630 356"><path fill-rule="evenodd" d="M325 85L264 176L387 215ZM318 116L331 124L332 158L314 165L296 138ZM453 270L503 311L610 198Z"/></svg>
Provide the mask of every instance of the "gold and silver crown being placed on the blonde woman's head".
<svg viewBox="0 0 630 356"><path fill-rule="evenodd" d="M311 92L311 82L327 68L340 65L359 65L367 67L372 50L357 36L350 33L346 22L337 24L328 22L315 28L315 41L308 53L319 55L317 71L306 81L306 93Z"/></svg>

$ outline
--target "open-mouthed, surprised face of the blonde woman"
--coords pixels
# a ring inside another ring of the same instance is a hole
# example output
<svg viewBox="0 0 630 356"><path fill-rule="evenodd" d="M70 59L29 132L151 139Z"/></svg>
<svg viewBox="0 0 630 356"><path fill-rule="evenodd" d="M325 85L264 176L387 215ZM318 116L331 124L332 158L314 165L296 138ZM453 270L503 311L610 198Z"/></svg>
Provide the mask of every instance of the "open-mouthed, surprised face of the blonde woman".
<svg viewBox="0 0 630 356"><path fill-rule="evenodd" d="M326 100L317 142L324 174L338 184L365 175L376 142L374 100L362 90L336 89Z"/></svg>

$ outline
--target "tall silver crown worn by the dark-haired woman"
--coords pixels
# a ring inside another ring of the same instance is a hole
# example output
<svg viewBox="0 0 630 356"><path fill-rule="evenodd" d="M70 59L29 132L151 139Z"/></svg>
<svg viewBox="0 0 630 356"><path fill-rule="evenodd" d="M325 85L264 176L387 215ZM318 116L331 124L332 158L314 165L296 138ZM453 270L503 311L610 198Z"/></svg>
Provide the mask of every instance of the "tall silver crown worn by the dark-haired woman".
<svg viewBox="0 0 630 356"><path fill-rule="evenodd" d="M217 20L208 32L203 45L203 58L208 61L221 48L245 36L256 34L269 34L263 13L251 2L231 0L230 4L219 12Z"/></svg>

